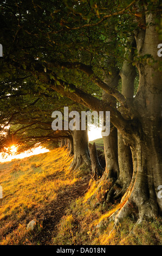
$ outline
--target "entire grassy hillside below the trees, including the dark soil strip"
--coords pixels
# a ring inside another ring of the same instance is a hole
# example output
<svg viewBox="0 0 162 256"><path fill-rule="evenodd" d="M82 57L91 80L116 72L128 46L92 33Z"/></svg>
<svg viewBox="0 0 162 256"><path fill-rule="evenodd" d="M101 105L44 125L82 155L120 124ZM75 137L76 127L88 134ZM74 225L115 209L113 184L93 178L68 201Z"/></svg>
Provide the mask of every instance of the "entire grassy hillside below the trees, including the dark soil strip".
<svg viewBox="0 0 162 256"><path fill-rule="evenodd" d="M161 219L134 226L127 218L109 235L108 216L96 182L73 173L67 149L0 164L0 245L161 245ZM89 186L90 185L90 186ZM99 197L100 198L100 197ZM27 224L35 221L34 230Z"/></svg>

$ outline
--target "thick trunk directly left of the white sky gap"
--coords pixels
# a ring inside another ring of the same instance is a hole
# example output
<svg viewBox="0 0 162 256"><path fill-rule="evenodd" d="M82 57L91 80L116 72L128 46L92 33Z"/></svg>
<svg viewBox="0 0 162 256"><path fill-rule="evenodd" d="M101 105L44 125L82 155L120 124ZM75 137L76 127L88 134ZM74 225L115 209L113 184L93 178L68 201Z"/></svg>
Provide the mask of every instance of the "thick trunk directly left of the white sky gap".
<svg viewBox="0 0 162 256"><path fill-rule="evenodd" d="M70 168L76 170L80 169L83 172L90 173L91 162L88 149L88 132L86 131L73 131L74 142L74 160Z"/></svg>

